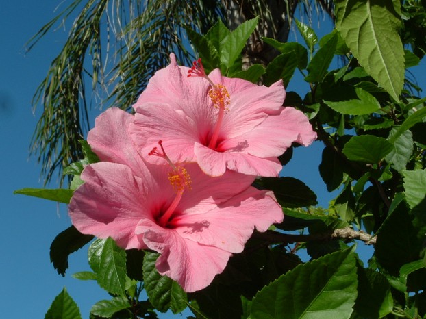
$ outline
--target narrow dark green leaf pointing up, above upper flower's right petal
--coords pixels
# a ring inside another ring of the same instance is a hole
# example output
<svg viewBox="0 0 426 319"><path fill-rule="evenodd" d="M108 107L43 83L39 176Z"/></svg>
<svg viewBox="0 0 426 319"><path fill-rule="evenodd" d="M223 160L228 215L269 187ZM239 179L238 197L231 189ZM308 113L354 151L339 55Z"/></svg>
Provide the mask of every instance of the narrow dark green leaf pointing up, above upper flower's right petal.
<svg viewBox="0 0 426 319"><path fill-rule="evenodd" d="M334 34L324 45L319 49L311 62L308 64L308 75L305 77L305 81L311 83L318 83L323 81L323 78L327 74L327 68L329 67L331 60L333 60L334 53L336 52L337 46L337 34Z"/></svg>

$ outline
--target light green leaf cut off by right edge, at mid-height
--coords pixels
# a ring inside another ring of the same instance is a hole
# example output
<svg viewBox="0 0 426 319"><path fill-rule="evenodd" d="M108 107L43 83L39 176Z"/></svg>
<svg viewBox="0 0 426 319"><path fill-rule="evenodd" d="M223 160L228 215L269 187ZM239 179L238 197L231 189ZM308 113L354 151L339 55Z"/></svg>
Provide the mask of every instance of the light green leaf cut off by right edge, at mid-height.
<svg viewBox="0 0 426 319"><path fill-rule="evenodd" d="M426 169L403 170L405 200L411 209L422 203L426 196Z"/></svg>

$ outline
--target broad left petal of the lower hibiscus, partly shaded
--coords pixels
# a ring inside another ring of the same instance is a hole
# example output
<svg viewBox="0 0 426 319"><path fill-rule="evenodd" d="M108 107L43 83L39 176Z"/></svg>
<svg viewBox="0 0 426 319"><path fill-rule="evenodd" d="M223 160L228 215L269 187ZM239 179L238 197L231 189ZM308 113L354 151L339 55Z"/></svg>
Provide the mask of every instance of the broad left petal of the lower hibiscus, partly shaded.
<svg viewBox="0 0 426 319"><path fill-rule="evenodd" d="M82 179L68 207L73 225L82 233L111 237L125 249L147 248L134 233L140 218L152 218L147 185L129 167L109 162L86 166Z"/></svg>

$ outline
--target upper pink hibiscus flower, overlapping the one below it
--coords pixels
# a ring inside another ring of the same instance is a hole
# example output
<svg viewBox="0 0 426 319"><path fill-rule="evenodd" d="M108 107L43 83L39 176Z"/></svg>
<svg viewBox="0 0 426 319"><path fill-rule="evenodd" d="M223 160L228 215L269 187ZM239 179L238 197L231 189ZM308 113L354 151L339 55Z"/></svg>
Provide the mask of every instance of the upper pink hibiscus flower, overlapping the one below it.
<svg viewBox="0 0 426 319"><path fill-rule="evenodd" d="M142 155L163 140L173 162L197 162L211 176L226 169L277 176L277 157L292 142L308 146L316 139L302 112L282 107L282 81L258 86L217 69L207 76L201 60L186 68L170 57L134 105L131 136Z"/></svg>

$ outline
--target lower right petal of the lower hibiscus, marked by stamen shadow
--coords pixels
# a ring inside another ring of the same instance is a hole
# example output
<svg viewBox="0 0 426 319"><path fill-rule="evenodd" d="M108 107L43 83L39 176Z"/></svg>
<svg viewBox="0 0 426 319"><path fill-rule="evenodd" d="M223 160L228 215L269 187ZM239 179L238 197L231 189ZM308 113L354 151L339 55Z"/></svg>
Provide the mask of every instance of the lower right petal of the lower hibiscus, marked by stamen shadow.
<svg viewBox="0 0 426 319"><path fill-rule="evenodd" d="M240 253L254 228L266 231L283 217L272 192L250 187L206 214L179 216L173 225L184 238Z"/></svg>

